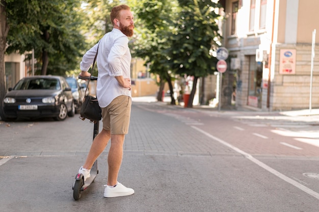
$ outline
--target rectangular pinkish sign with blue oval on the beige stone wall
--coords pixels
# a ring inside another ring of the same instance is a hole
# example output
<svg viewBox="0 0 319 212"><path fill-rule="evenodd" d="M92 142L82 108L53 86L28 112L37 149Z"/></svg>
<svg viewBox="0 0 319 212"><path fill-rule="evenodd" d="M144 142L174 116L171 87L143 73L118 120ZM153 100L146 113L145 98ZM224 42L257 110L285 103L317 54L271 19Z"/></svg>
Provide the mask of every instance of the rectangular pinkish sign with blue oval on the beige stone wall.
<svg viewBox="0 0 319 212"><path fill-rule="evenodd" d="M279 73L296 73L296 49L280 49Z"/></svg>

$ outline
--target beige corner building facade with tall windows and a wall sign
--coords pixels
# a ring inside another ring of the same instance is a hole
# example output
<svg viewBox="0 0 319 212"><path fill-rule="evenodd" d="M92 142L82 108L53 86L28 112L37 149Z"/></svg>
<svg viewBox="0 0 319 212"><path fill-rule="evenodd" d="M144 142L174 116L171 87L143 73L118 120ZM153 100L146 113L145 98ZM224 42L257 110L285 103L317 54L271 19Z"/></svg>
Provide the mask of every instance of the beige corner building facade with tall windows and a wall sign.
<svg viewBox="0 0 319 212"><path fill-rule="evenodd" d="M319 41L319 1L219 2L225 17L222 43L229 51L223 88L234 87L236 106L319 108L319 48L313 45ZM222 103L227 104L225 97Z"/></svg>

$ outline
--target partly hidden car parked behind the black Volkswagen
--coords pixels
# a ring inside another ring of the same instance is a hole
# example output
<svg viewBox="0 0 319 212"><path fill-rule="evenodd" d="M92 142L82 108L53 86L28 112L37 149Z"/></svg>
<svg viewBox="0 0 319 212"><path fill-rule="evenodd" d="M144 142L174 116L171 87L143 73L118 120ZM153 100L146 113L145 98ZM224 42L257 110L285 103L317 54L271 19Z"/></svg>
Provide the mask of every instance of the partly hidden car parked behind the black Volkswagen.
<svg viewBox="0 0 319 212"><path fill-rule="evenodd" d="M65 79L68 82L68 84L72 90L75 113L79 113L81 111L83 98L85 96L86 86L84 87L83 85L79 84L77 82L76 78L66 77Z"/></svg>

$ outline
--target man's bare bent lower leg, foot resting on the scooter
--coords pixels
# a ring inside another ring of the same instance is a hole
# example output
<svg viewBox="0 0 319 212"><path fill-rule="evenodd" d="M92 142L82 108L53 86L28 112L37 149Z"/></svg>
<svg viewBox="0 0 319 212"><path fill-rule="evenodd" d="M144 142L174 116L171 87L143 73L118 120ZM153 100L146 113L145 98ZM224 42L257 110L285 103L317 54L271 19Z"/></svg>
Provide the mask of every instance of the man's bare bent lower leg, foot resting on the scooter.
<svg viewBox="0 0 319 212"><path fill-rule="evenodd" d="M87 160L83 166L85 169L91 169L97 157L104 151L107 147L108 142L111 137L111 132L105 129L102 129L100 133L95 137L90 152L87 156Z"/></svg>

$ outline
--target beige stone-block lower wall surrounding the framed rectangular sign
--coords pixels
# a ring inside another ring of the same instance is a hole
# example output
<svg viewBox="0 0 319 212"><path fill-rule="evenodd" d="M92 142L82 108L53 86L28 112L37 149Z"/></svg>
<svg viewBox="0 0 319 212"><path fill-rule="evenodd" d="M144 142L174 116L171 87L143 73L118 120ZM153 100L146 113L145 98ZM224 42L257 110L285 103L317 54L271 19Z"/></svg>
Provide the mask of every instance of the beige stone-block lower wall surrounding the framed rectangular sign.
<svg viewBox="0 0 319 212"><path fill-rule="evenodd" d="M296 74L280 74L280 49L297 50ZM315 48L316 55L319 48ZM272 110L308 109L310 101L311 45L277 45L275 76L273 80ZM312 108L319 108L319 59L316 58L312 79Z"/></svg>

